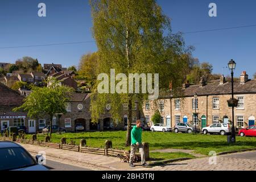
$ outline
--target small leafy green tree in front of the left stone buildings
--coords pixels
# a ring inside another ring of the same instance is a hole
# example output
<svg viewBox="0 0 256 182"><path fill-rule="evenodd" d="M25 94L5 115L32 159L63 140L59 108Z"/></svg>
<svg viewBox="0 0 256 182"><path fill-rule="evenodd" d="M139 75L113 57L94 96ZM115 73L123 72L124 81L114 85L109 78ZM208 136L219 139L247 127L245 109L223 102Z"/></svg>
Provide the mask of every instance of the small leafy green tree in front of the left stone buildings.
<svg viewBox="0 0 256 182"><path fill-rule="evenodd" d="M48 80L49 81L49 80ZM24 104L16 107L14 111L27 111L30 118L35 118L43 114L50 117L50 138L52 135L52 118L56 113L66 113L66 102L69 99L69 92L73 89L60 86L58 81L51 80L48 87L32 86L32 92L24 99Z"/></svg>

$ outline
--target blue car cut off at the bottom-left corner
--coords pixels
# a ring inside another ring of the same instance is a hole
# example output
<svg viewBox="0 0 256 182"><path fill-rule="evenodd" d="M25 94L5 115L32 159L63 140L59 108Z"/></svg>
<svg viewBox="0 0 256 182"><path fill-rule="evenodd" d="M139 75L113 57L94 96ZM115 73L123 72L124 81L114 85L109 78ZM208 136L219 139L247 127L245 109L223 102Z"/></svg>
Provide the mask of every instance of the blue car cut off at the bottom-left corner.
<svg viewBox="0 0 256 182"><path fill-rule="evenodd" d="M39 156L36 156L39 159ZM19 144L0 141L0 171L48 171Z"/></svg>

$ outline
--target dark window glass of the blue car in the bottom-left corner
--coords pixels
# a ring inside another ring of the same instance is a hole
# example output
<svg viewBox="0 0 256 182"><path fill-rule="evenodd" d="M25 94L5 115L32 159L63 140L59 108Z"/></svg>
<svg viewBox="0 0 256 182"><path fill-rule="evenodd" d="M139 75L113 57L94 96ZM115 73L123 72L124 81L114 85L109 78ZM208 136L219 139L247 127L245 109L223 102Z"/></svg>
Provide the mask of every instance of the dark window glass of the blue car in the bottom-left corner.
<svg viewBox="0 0 256 182"><path fill-rule="evenodd" d="M35 160L23 148L0 148L0 170L12 170L35 165Z"/></svg>

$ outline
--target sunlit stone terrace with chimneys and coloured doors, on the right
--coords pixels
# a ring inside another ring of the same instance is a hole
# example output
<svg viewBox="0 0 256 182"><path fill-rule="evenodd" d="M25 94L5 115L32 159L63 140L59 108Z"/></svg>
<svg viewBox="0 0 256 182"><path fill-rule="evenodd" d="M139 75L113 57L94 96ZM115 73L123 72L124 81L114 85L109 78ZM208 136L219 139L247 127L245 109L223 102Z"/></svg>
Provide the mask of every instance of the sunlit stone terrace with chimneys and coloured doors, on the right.
<svg viewBox="0 0 256 182"><path fill-rule="evenodd" d="M183 84L183 88L180 89L181 97L175 97L172 90L154 103L144 103L143 114L150 125L155 111L153 105L159 109L162 123L171 127L179 122L193 125L196 122L199 127L218 122L232 123L232 107L228 107L227 102L231 98L232 85L231 82L225 81L225 77L222 76L220 82L212 84L207 84L204 80L201 80L200 85ZM254 125L256 80L249 80L246 72L241 74L240 81L234 82L234 98L238 99L238 106L234 108L235 127L239 129Z"/></svg>

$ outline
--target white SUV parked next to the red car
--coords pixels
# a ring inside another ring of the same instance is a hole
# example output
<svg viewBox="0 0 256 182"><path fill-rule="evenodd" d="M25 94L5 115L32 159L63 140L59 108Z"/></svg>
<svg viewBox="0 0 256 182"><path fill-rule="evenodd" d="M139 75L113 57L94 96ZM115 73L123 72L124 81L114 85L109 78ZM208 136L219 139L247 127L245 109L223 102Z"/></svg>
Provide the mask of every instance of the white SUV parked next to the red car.
<svg viewBox="0 0 256 182"><path fill-rule="evenodd" d="M214 123L208 127L203 127L203 134L221 134L226 135L231 133L231 127L228 123Z"/></svg>

